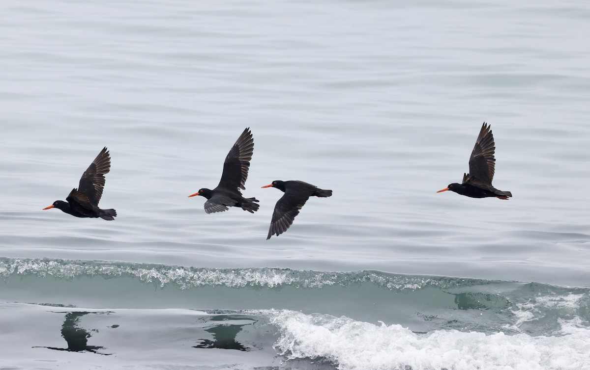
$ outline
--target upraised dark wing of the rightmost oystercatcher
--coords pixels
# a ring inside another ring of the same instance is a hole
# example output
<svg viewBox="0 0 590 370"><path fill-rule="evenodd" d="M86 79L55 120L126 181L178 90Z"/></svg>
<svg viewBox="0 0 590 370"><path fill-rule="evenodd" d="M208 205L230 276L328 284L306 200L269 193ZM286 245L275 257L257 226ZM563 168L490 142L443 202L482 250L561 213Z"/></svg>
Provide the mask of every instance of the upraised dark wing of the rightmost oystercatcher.
<svg viewBox="0 0 590 370"><path fill-rule="evenodd" d="M480 134L477 136L476 145L471 151L469 174L491 184L496 168L495 151L494 136L491 134L490 126L484 122Z"/></svg>

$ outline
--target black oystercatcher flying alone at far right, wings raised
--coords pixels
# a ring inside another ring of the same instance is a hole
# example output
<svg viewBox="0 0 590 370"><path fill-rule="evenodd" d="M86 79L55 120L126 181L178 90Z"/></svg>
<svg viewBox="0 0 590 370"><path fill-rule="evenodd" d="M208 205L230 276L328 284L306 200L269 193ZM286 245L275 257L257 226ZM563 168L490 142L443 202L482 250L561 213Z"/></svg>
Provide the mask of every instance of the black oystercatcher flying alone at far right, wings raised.
<svg viewBox="0 0 590 370"><path fill-rule="evenodd" d="M450 184L445 189L438 190L437 193L451 190L472 198L497 197L507 200L508 197L512 197L510 191L501 191L491 186L496 166L495 150L494 136L491 134L490 126L484 122L469 158L469 173L463 174L463 183Z"/></svg>

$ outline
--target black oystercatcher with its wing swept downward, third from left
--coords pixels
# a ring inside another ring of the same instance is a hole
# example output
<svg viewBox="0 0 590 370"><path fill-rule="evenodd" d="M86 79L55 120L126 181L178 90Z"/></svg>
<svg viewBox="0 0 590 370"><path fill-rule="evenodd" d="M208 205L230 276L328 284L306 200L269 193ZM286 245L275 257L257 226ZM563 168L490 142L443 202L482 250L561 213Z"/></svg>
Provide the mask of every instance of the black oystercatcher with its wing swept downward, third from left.
<svg viewBox="0 0 590 370"><path fill-rule="evenodd" d="M285 193L274 206L273 219L270 221L270 229L268 229L266 240L270 239L273 234L279 236L286 232L310 196L320 198L332 196L332 190L319 189L319 187L303 181L276 180L272 184L263 187L276 187Z"/></svg>

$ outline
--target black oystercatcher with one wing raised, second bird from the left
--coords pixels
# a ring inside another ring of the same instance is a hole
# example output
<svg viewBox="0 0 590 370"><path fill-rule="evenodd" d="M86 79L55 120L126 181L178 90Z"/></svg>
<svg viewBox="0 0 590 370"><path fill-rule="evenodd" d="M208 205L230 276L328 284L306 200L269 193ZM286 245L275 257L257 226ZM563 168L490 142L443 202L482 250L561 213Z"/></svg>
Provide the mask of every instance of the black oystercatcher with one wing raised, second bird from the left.
<svg viewBox="0 0 590 370"><path fill-rule="evenodd" d="M243 210L254 213L258 210L258 200L255 198L244 198L241 189L246 189L244 183L248 178L248 168L254 151L254 139L250 128L246 128L238 137L234 146L231 147L230 153L225 157L223 164L223 173L218 186L213 189L200 189L195 194L204 196L208 200L205 202L205 212L223 212L228 207L241 207Z"/></svg>

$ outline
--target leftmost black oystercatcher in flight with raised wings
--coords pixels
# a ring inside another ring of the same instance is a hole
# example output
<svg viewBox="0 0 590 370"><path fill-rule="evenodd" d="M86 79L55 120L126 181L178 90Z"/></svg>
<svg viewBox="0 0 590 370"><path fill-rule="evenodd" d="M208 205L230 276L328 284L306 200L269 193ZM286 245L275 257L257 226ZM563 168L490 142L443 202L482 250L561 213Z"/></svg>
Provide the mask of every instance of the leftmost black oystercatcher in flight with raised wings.
<svg viewBox="0 0 590 370"><path fill-rule="evenodd" d="M114 220L117 212L114 209L100 209L99 201L103 195L104 174L110 171L109 151L104 147L94 158L88 169L80 178L78 189L72 189L66 201L56 200L45 209L57 208L76 217L100 217L104 220Z"/></svg>

